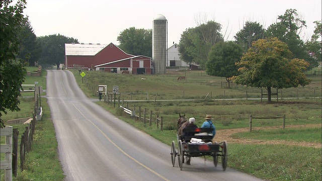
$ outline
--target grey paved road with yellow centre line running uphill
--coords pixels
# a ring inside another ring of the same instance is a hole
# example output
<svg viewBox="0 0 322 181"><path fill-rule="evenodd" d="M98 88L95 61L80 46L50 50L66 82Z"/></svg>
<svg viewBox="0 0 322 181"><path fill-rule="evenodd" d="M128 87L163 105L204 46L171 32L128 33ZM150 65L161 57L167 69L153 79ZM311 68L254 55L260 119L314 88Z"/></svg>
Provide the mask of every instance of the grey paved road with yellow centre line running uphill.
<svg viewBox="0 0 322 181"><path fill-rule="evenodd" d="M66 180L260 180L203 158L172 167L169 145L88 99L70 71L47 70L46 92Z"/></svg>

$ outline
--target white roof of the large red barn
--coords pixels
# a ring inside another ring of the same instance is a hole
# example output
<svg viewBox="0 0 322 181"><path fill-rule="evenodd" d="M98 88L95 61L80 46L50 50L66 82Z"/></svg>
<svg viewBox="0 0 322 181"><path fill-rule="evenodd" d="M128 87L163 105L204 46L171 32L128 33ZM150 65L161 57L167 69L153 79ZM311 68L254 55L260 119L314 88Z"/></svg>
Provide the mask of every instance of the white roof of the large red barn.
<svg viewBox="0 0 322 181"><path fill-rule="evenodd" d="M96 55L107 45L65 43L65 55Z"/></svg>

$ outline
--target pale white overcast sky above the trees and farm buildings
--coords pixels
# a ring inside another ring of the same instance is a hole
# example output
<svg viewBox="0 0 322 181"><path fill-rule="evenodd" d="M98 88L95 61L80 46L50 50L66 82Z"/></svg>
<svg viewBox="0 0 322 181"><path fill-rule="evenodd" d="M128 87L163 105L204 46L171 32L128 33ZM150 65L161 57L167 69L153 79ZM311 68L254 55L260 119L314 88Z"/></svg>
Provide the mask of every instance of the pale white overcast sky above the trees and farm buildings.
<svg viewBox="0 0 322 181"><path fill-rule="evenodd" d="M170 47L179 43L183 31L197 26L200 16L220 23L225 40L234 40L245 21L267 28L287 9L296 9L306 21L301 37L309 39L313 22L322 19L321 7L321 0L27 0L24 15L36 36L61 34L80 43L118 45L116 39L123 30L152 29L153 18L162 14L168 20Z"/></svg>

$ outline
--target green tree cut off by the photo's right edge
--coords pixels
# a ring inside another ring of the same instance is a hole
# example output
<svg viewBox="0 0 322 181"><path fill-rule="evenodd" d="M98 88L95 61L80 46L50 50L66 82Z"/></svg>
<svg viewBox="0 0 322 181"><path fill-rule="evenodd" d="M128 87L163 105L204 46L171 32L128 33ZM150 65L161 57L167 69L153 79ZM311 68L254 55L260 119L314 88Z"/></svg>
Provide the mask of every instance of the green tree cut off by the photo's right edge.
<svg viewBox="0 0 322 181"><path fill-rule="evenodd" d="M321 47L322 47L322 41L321 41L321 34L322 34L322 24L321 21L315 21L315 30L314 34L311 37L310 41L307 41L305 43L305 46L307 47L308 52L314 53L313 58L316 58L318 62L322 61L322 52L321 52ZM318 41L320 40L320 41Z"/></svg>

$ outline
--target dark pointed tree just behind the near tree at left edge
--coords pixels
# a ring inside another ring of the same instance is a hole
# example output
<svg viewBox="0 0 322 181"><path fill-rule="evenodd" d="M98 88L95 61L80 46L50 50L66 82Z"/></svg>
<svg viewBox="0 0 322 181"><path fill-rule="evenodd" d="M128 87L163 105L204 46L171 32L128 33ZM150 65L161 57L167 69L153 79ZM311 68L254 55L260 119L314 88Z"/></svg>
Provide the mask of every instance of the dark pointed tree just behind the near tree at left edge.
<svg viewBox="0 0 322 181"><path fill-rule="evenodd" d="M28 19L26 19L23 29L18 58L28 60L29 65L33 66L41 56L41 46Z"/></svg>

